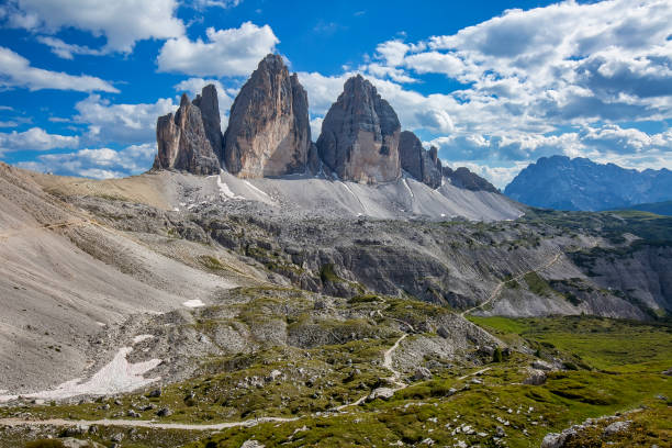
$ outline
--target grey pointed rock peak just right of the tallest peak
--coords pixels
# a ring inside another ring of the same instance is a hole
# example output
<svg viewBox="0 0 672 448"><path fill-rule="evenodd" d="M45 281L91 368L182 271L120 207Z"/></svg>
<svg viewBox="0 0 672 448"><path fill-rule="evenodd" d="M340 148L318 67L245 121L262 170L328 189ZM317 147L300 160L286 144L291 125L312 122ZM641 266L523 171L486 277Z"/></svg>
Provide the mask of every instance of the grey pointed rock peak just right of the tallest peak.
<svg viewBox="0 0 672 448"><path fill-rule="evenodd" d="M320 157L343 180L399 179L401 125L392 107L360 75L348 79L322 123Z"/></svg>

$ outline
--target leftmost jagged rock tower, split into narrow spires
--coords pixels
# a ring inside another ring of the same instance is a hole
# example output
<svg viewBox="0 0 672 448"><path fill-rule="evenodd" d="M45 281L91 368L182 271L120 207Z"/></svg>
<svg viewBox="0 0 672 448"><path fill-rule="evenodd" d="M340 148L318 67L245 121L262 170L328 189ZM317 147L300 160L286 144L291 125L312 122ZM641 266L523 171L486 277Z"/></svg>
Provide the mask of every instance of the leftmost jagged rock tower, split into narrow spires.
<svg viewBox="0 0 672 448"><path fill-rule="evenodd" d="M201 110L189 101L186 93L175 114L159 116L156 143L158 154L154 169L176 169L194 175L220 172L220 160L208 137Z"/></svg>

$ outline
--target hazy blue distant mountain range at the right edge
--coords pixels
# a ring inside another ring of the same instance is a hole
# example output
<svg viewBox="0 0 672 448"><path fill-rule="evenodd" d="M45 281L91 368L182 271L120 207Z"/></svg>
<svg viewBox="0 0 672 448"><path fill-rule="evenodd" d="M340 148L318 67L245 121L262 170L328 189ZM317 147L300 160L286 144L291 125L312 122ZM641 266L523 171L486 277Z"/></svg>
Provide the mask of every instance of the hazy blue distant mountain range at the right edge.
<svg viewBox="0 0 672 448"><path fill-rule="evenodd" d="M541 157L520 171L504 194L546 209L628 209L672 200L672 171L638 171L581 157Z"/></svg>

